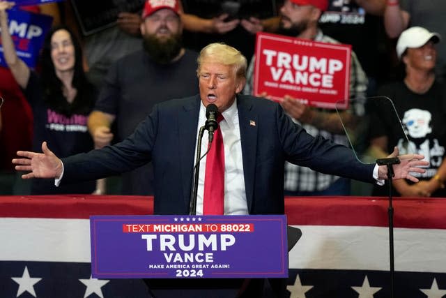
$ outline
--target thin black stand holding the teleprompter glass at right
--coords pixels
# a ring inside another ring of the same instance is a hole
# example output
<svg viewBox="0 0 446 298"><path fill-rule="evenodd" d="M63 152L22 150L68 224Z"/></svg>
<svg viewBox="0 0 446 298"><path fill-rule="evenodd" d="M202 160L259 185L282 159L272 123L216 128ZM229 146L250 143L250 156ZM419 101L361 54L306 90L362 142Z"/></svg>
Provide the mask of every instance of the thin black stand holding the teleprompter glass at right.
<svg viewBox="0 0 446 298"><path fill-rule="evenodd" d="M389 216L389 253L390 253L390 298L394 298L395 269L394 269L394 246L393 246L393 206L392 206L392 177L394 177L393 165L400 163L399 158L378 158L378 165L387 166L387 183L389 184L389 207L387 214Z"/></svg>

